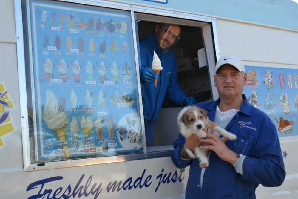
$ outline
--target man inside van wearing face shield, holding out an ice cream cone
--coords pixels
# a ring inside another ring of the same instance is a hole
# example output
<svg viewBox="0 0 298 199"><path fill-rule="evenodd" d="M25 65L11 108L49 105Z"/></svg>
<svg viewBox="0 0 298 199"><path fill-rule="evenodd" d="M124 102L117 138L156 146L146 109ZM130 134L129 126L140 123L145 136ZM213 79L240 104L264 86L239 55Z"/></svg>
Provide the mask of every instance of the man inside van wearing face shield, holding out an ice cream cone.
<svg viewBox="0 0 298 199"><path fill-rule="evenodd" d="M170 49L179 39L180 31L177 25L156 24L154 32L140 40L140 79L147 146L152 141L155 121L166 94L180 105L195 104L194 97L188 97L177 83L176 58ZM158 76L152 70L154 52L163 67ZM153 83L155 78L158 78L156 87Z"/></svg>

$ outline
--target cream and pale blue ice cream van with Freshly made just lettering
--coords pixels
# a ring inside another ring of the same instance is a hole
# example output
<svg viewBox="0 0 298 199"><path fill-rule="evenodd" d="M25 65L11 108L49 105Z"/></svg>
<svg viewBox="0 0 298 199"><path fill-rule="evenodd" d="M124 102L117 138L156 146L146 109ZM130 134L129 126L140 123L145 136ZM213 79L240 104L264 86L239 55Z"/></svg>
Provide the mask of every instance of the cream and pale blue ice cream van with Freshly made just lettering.
<svg viewBox="0 0 298 199"><path fill-rule="evenodd" d="M276 125L286 178L257 198L298 198L298 4L290 0L4 0L0 26L0 198L185 197L169 98L146 146L139 40L182 27L181 89L216 100L216 60L248 73L249 103Z"/></svg>

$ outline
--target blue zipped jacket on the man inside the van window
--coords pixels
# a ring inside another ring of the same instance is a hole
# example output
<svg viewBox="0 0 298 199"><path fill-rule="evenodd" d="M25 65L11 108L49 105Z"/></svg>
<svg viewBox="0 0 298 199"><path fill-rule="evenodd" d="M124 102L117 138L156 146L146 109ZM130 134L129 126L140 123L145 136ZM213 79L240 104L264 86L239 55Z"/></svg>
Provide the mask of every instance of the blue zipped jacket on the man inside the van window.
<svg viewBox="0 0 298 199"><path fill-rule="evenodd" d="M154 33L140 40L140 76L142 76L144 68L152 67L154 51L161 61L163 70L159 73L156 88L154 88L154 83L143 82L141 84L143 112L146 120L158 118L166 94L180 105L187 98L177 83L177 65L174 53L170 49L160 49Z"/></svg>

